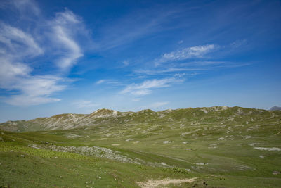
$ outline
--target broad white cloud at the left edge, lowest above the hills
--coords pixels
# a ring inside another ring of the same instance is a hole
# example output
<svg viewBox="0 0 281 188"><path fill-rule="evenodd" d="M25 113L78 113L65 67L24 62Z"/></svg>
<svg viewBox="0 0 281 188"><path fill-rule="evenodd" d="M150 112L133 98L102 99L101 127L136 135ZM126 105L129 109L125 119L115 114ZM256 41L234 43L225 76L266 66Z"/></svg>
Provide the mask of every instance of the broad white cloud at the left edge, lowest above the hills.
<svg viewBox="0 0 281 188"><path fill-rule="evenodd" d="M60 101L60 99L51 98L50 95L65 89L66 86L59 83L63 80L62 78L30 75L30 68L22 63L13 65L11 62L6 62L1 65L4 65L5 69L14 70L11 74L0 72L0 87L16 92L10 97L2 98L7 104L28 106Z"/></svg>

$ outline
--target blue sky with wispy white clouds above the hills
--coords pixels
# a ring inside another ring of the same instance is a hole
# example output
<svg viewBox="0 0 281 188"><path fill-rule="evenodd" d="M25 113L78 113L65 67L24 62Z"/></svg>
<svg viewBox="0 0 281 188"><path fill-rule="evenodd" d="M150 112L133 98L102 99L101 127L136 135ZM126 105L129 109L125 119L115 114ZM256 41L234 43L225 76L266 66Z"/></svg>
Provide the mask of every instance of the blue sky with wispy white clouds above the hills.
<svg viewBox="0 0 281 188"><path fill-rule="evenodd" d="M0 1L0 122L281 106L281 1Z"/></svg>

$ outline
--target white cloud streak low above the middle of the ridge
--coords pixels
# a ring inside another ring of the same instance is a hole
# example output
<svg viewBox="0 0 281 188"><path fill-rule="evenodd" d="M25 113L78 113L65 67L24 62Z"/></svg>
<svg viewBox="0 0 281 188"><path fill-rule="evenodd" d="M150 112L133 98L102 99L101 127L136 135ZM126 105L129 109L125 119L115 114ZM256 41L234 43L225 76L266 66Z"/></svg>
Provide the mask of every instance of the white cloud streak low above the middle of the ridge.
<svg viewBox="0 0 281 188"><path fill-rule="evenodd" d="M172 84L180 84L184 80L172 78L164 78L159 80L145 80L140 84L129 84L120 92L121 94L147 95L151 93L151 89L170 87Z"/></svg>

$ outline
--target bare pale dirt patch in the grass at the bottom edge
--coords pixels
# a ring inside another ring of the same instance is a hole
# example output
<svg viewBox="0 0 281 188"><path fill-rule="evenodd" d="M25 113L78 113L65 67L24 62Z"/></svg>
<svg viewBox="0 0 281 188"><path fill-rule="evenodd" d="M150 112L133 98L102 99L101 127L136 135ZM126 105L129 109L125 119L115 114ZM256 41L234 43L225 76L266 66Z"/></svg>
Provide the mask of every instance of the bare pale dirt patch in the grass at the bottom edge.
<svg viewBox="0 0 281 188"><path fill-rule="evenodd" d="M190 179L164 179L164 180L146 180L145 182L136 182L142 188L153 188L158 186L165 186L168 184L180 184L180 183L192 183L195 181L197 177L193 177Z"/></svg>

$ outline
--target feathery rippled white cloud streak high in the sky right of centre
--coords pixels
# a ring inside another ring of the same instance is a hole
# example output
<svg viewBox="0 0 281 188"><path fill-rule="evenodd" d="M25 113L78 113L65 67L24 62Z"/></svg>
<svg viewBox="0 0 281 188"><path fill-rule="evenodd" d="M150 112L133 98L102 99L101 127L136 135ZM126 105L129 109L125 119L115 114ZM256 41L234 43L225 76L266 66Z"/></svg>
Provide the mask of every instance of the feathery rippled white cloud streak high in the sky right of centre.
<svg viewBox="0 0 281 188"><path fill-rule="evenodd" d="M167 61L179 61L188 58L203 58L205 54L214 51L216 46L214 44L207 44L203 46L192 46L178 51L171 51L163 54L161 58L157 59L155 65Z"/></svg>

